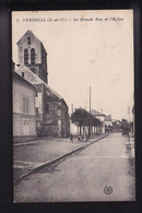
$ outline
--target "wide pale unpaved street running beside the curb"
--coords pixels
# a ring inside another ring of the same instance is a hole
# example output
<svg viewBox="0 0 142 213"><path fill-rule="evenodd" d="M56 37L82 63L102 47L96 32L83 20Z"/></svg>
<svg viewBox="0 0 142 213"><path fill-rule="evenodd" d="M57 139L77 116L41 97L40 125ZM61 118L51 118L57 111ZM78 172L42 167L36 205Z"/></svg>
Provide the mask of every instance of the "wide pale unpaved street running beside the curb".
<svg viewBox="0 0 142 213"><path fill-rule="evenodd" d="M134 166L128 137L111 133L14 187L14 202L130 201Z"/></svg>

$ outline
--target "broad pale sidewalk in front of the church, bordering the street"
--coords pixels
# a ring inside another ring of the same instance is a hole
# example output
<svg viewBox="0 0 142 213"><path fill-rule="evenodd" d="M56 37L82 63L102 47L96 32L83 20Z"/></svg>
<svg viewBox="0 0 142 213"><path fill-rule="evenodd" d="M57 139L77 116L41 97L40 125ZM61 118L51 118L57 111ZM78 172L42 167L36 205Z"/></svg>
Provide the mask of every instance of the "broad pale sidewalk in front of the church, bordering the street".
<svg viewBox="0 0 142 213"><path fill-rule="evenodd" d="M106 137L106 135L105 135ZM13 174L17 181L26 174L43 165L48 165L95 142L104 135L90 139L88 142L79 142L76 139L70 143L70 139L40 139L39 141L17 143L13 145Z"/></svg>

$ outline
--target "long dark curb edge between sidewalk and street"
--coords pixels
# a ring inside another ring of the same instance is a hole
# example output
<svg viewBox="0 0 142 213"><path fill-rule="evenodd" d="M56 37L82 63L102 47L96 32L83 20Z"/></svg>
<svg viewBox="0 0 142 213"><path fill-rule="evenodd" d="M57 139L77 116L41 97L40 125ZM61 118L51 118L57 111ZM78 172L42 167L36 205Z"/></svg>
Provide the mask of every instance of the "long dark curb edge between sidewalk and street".
<svg viewBox="0 0 142 213"><path fill-rule="evenodd" d="M68 157L68 156L70 156L70 155L72 155L72 154L74 154L74 153L76 153L76 152L79 152L79 151L84 150L85 147L90 146L91 144L93 144L93 143L95 143L95 142L97 142L97 141L99 141L99 140L106 138L106 137L108 137L108 134L105 134L105 135L103 135L102 138L98 138L98 139L96 139L95 141L92 141L91 143L88 143L88 144L86 144L86 145L84 145L84 146L78 147L76 150L73 150L73 151L71 151L71 152L69 152L69 153L67 153L67 154L64 154L64 155L60 155L60 156L56 157L55 159L48 161L48 162L44 163L43 165L40 165L40 166L34 168L33 170L31 170L31 171L28 171L28 173L22 175L17 180L15 180L15 181L13 181L13 182L14 182L14 184L19 184L21 180L23 180L23 179L26 178L27 176L33 175L33 174L35 174L35 173L38 173L38 171L43 170L44 168L48 168L49 166L54 165L55 163L57 163L57 162L59 162L59 161L61 161L61 159L63 159L63 158L66 158L66 157Z"/></svg>

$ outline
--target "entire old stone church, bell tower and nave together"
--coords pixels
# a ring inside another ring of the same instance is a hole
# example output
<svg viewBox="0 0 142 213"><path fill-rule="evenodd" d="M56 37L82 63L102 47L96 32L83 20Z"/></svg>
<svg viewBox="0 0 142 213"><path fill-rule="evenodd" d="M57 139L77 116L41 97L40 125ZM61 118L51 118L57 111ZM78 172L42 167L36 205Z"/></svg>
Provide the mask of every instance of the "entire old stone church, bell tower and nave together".
<svg viewBox="0 0 142 213"><path fill-rule="evenodd" d="M16 45L16 72L36 87L37 134L68 137L69 109L64 99L48 85L47 52L43 43L27 31Z"/></svg>

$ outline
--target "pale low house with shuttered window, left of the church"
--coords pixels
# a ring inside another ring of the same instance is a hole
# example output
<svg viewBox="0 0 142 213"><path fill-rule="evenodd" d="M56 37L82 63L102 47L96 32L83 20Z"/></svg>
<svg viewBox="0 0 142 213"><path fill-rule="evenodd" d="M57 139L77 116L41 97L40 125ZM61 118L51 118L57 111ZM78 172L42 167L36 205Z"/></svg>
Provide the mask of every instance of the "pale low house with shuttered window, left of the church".
<svg viewBox="0 0 142 213"><path fill-rule="evenodd" d="M16 72L13 74L13 142L36 139L36 88Z"/></svg>

